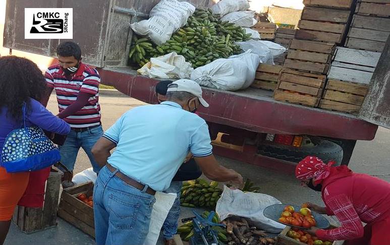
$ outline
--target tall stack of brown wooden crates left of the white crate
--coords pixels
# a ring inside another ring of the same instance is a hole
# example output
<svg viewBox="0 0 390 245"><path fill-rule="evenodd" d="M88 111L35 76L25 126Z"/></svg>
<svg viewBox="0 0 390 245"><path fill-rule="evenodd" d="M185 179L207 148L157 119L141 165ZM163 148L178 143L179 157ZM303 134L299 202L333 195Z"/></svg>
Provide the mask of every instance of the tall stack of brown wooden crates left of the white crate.
<svg viewBox="0 0 390 245"><path fill-rule="evenodd" d="M354 0L305 0L274 92L276 100L316 107L336 45L345 40ZM286 79L289 79L288 81Z"/></svg>

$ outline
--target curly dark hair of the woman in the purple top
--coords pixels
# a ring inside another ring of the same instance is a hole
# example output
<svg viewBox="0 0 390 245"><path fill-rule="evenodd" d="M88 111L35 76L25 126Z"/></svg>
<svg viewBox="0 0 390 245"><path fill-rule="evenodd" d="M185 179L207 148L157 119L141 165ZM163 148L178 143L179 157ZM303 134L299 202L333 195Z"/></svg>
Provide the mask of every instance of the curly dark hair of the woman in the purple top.
<svg viewBox="0 0 390 245"><path fill-rule="evenodd" d="M0 110L7 107L8 115L20 120L24 102L30 98L40 101L46 91L45 78L31 60L13 55L0 57Z"/></svg>

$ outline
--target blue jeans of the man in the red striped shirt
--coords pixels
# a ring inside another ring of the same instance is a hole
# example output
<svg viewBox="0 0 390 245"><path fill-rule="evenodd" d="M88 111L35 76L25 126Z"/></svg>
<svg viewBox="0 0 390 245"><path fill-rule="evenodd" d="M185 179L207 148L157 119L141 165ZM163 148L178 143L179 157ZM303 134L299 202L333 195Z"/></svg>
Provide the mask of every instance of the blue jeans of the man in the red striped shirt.
<svg viewBox="0 0 390 245"><path fill-rule="evenodd" d="M85 153L87 153L89 161L93 167L93 171L95 173L99 172L100 167L95 161L91 150L92 147L96 144L96 141L100 139L102 135L103 129L101 126L83 132L76 132L71 130L64 145L60 147L61 163L64 164L68 170L72 171L75 167L77 154L79 153L81 147Z"/></svg>

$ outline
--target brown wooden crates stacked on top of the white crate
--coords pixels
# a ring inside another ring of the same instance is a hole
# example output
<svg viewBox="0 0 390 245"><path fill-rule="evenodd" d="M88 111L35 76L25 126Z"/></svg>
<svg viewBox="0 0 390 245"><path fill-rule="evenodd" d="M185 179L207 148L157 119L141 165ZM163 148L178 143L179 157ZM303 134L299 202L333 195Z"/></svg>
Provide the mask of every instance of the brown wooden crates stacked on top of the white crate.
<svg viewBox="0 0 390 245"><path fill-rule="evenodd" d="M390 34L390 0L358 0L345 47L381 52Z"/></svg>

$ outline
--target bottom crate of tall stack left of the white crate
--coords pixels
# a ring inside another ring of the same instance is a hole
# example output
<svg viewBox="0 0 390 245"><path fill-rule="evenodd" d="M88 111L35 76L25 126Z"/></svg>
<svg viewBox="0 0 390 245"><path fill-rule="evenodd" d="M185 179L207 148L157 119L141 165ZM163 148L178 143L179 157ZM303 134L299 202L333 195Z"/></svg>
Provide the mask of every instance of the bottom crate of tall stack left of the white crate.
<svg viewBox="0 0 390 245"><path fill-rule="evenodd" d="M275 100L293 104L318 106L326 76L298 72L284 68L274 92Z"/></svg>

